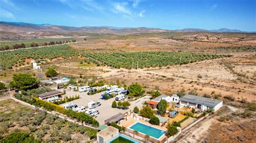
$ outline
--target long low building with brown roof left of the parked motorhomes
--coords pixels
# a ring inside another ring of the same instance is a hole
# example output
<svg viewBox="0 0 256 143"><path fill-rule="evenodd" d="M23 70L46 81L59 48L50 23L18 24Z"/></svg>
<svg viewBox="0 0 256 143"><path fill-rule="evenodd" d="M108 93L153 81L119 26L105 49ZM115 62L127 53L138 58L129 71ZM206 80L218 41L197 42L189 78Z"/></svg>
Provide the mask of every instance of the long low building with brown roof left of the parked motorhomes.
<svg viewBox="0 0 256 143"><path fill-rule="evenodd" d="M60 99L62 92L59 90L53 90L50 92L45 92L44 94L37 95L39 99L48 102L56 102Z"/></svg>

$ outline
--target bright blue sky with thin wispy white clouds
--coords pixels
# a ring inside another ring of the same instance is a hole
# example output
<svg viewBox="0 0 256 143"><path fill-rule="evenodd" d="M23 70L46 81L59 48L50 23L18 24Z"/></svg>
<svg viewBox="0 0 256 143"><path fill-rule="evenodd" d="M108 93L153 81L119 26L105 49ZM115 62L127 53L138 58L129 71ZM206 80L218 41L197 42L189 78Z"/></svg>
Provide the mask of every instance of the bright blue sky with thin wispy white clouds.
<svg viewBox="0 0 256 143"><path fill-rule="evenodd" d="M256 0L0 0L0 21L256 31Z"/></svg>

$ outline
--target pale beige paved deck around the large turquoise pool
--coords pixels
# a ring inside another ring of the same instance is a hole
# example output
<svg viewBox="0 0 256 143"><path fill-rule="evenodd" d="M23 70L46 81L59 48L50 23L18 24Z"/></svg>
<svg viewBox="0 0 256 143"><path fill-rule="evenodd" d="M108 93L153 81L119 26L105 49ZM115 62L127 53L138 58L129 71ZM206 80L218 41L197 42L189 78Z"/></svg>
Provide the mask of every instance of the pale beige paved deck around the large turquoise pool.
<svg viewBox="0 0 256 143"><path fill-rule="evenodd" d="M129 120L123 120L123 122L120 125L124 126L125 128L129 128L131 125L135 124L136 122L143 123L143 124L146 124L149 126L153 126L153 127L159 128L160 130L167 132L167 128L165 126L161 127L158 125L152 125L144 120L134 120L133 118L130 118ZM163 140L164 138L168 138L167 135L164 134L158 140Z"/></svg>

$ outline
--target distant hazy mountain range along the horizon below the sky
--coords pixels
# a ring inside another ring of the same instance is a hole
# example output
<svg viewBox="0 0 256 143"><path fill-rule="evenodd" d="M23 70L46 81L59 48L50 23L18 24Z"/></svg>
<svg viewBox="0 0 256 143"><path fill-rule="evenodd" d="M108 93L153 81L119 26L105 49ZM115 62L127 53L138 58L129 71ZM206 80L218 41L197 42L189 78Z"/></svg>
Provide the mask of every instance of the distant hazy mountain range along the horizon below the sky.
<svg viewBox="0 0 256 143"><path fill-rule="evenodd" d="M38 31L55 31L55 32L86 32L86 33L155 33L155 32L245 32L240 30L231 30L228 28L220 28L218 30L204 30L200 28L184 28L183 30L164 30L161 28L148 27L112 27L112 26L58 26L52 24L30 24L16 22L0 22L0 31L4 32L38 32Z"/></svg>

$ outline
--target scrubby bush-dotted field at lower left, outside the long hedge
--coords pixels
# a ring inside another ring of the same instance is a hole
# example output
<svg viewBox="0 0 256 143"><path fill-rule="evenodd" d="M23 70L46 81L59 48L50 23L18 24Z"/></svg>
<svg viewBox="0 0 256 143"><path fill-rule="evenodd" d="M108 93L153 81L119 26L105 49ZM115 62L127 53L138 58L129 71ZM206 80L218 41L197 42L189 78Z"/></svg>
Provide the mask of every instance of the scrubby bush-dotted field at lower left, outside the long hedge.
<svg viewBox="0 0 256 143"><path fill-rule="evenodd" d="M94 138L97 133L11 99L0 101L0 105L0 138L14 132L25 132L44 142L80 142Z"/></svg>

